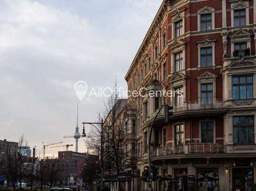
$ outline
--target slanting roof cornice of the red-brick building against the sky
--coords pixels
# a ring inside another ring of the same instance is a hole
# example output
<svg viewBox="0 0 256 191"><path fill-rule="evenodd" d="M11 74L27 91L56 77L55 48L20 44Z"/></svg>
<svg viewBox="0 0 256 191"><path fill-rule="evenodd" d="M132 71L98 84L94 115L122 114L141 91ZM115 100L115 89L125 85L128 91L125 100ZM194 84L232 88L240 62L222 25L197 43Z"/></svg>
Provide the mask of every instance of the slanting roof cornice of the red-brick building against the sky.
<svg viewBox="0 0 256 191"><path fill-rule="evenodd" d="M149 29L148 29L148 31L147 31L147 33L146 33L146 35L145 35L145 37L144 37L144 39L143 39L143 41L142 41L141 45L140 45L139 50L137 51L137 53L136 53L136 55L135 55L135 57L134 57L134 59L133 59L133 61L132 61L131 66L130 66L130 68L128 69L128 71L127 71L126 75L124 76L124 79L125 79L125 80L126 80L126 78L127 78L128 74L130 73L130 71L131 71L131 69L132 69L132 66L133 66L134 62L135 62L135 61L136 61L136 59L138 58L138 55L139 55L139 53L140 53L140 51L141 51L142 47L144 46L145 41L146 41L146 40L147 40L147 38L149 37L149 32L152 30L152 28L153 28L154 24L156 23L157 17L158 17L158 16L159 16L159 14L161 13L161 11L162 11L162 9L163 9L163 7L164 7L164 5L165 5L165 2L166 2L166 0L163 0L163 2L162 2L162 4L161 4L160 8L159 8L159 9L158 9L158 11L157 11L156 16L154 17L154 19L153 19L152 23L150 24L150 27L149 27Z"/></svg>

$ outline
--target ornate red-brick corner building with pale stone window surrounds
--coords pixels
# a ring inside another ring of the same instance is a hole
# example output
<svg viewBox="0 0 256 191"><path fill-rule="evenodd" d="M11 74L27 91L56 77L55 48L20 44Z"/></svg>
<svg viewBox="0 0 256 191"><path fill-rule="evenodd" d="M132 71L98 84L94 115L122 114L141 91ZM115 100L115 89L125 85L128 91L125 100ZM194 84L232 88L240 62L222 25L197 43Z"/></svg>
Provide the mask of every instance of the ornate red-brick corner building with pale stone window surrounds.
<svg viewBox="0 0 256 191"><path fill-rule="evenodd" d="M152 119L173 106L168 124L160 111L151 139L158 175L172 181L155 181L154 191L249 191L256 183L255 47L256 0L163 1L125 76L130 91L173 91L128 99L140 176Z"/></svg>

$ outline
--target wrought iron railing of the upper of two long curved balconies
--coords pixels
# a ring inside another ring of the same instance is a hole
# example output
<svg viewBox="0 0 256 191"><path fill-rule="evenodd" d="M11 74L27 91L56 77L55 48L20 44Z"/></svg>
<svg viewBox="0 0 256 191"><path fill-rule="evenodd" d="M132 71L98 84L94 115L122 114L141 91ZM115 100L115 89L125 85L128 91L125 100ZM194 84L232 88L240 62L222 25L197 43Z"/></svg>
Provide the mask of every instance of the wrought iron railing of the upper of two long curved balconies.
<svg viewBox="0 0 256 191"><path fill-rule="evenodd" d="M223 100L215 101L187 101L182 104L175 104L173 112L190 111L190 110L206 110L206 109L222 109L225 108Z"/></svg>

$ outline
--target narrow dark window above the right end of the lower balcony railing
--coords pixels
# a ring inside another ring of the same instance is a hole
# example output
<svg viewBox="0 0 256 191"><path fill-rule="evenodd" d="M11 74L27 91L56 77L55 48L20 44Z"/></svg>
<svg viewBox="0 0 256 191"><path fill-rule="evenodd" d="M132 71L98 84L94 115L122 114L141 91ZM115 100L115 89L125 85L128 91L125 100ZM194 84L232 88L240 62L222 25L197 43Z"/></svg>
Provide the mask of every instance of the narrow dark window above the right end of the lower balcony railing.
<svg viewBox="0 0 256 191"><path fill-rule="evenodd" d="M213 143L214 142L213 122L201 122L201 142Z"/></svg>

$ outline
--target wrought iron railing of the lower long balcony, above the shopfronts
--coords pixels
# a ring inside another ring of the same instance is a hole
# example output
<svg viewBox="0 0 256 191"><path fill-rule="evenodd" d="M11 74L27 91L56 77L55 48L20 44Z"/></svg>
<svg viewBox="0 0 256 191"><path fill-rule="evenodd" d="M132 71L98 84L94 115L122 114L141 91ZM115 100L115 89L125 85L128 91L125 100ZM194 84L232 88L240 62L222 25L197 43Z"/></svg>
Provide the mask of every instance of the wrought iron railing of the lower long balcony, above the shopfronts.
<svg viewBox="0 0 256 191"><path fill-rule="evenodd" d="M153 150L153 157L175 156L181 154L218 154L225 153L223 143L192 143L177 146L159 146Z"/></svg>

